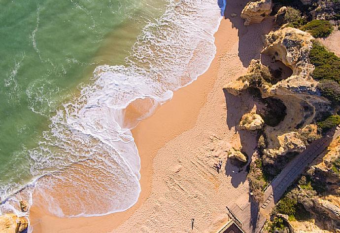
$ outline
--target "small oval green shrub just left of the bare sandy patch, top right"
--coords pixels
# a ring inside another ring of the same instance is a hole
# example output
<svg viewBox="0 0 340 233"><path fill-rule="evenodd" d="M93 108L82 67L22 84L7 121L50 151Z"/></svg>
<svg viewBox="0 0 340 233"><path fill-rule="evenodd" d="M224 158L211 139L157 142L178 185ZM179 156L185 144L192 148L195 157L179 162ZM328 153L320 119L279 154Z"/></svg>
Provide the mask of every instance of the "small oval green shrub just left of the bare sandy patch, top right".
<svg viewBox="0 0 340 233"><path fill-rule="evenodd" d="M332 24L327 20L313 20L300 28L302 31L309 32L315 38L329 36L333 31Z"/></svg>

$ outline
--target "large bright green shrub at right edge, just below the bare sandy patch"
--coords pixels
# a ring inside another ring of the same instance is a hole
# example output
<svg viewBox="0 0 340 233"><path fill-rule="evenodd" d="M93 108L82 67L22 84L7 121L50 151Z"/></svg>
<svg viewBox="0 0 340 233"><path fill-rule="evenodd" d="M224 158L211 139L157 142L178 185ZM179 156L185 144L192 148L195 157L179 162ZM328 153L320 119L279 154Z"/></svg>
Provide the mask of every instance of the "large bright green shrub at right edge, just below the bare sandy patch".
<svg viewBox="0 0 340 233"><path fill-rule="evenodd" d="M312 74L314 79L328 79L340 84L340 58L338 56L328 51L319 42L313 41L309 59L315 66Z"/></svg>

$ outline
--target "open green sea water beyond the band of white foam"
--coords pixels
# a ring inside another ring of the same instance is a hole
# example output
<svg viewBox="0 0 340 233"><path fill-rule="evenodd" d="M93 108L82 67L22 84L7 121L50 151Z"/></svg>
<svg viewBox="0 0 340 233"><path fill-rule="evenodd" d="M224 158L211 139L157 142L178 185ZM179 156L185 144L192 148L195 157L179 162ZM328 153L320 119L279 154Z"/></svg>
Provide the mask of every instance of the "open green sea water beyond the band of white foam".
<svg viewBox="0 0 340 233"><path fill-rule="evenodd" d="M160 15L165 2L147 3L0 1L1 188L30 179L27 150L77 85L100 64L124 64L148 14Z"/></svg>

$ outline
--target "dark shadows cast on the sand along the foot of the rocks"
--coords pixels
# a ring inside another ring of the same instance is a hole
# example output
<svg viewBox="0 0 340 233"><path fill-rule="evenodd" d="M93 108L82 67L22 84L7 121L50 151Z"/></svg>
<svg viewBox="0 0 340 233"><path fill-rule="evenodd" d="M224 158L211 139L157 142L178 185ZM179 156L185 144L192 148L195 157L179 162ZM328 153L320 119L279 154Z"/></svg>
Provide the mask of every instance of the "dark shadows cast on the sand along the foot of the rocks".
<svg viewBox="0 0 340 233"><path fill-rule="evenodd" d="M253 24L245 27L244 21L240 18L240 14L246 2L247 0L226 0L226 7L223 14L224 19L230 20L233 28L238 30L238 57L244 67L248 67L252 59L260 59L260 54L263 49L263 36L271 31L273 25L273 18L268 18L260 24ZM232 14L236 14L236 17L232 17ZM252 100L251 97L244 98L247 95L234 96L226 90L224 90L224 95L227 106L226 123L229 129L235 127L236 133L239 134L242 151L249 156L247 163L249 164L251 162L251 155L253 155L256 150L257 133L248 130L240 130L238 124L241 116L254 107L254 100ZM226 163L226 175L232 177L233 187L238 187L239 184L245 182L247 175L246 166L247 165L239 170L232 162ZM249 223L246 223L249 226L244 227L247 229L255 229L259 219L259 205L250 195L249 199L246 199L245 201L250 203L251 216L249 216Z"/></svg>

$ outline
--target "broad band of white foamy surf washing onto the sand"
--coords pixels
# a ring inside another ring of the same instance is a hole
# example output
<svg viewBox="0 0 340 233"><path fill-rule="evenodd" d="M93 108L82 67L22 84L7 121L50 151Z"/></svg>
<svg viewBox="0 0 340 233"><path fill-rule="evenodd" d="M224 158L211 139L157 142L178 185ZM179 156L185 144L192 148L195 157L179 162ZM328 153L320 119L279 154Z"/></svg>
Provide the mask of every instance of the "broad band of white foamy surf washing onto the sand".
<svg viewBox="0 0 340 233"><path fill-rule="evenodd" d="M57 216L78 217L136 203L140 159L130 128L123 127L123 111L137 99L162 104L203 74L215 54L220 19L216 0L171 0L138 36L126 66L96 68L93 85L60 108L29 151L31 173L41 177L34 183L34 195L44 199L40 205Z"/></svg>

